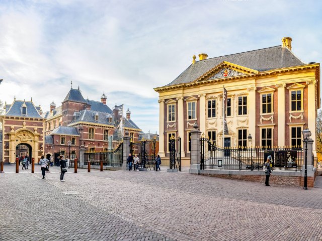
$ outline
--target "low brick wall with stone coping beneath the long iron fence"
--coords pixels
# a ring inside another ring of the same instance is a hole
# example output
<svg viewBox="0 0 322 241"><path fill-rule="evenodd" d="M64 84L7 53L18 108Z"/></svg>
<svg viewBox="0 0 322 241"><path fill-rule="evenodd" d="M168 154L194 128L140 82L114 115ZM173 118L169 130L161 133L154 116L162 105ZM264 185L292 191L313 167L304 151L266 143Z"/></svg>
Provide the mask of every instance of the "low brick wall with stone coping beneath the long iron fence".
<svg viewBox="0 0 322 241"><path fill-rule="evenodd" d="M198 170L190 171L192 174L206 175L232 180L243 180L251 182L265 183L265 174L263 171L245 171L245 170ZM307 187L314 187L316 177L316 168L307 172ZM287 185L300 187L304 185L304 171L273 171L269 180L273 185Z"/></svg>

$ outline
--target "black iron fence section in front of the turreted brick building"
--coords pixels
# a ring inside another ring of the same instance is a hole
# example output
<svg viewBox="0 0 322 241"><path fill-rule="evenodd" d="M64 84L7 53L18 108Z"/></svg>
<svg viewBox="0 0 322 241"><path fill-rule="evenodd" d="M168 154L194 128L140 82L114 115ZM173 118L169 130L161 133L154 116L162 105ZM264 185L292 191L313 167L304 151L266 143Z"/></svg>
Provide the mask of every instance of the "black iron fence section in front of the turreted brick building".
<svg viewBox="0 0 322 241"><path fill-rule="evenodd" d="M104 166L122 167L123 163L123 143L115 149L106 152L86 152L84 154L84 165L91 162L91 165L99 166L103 161Z"/></svg>

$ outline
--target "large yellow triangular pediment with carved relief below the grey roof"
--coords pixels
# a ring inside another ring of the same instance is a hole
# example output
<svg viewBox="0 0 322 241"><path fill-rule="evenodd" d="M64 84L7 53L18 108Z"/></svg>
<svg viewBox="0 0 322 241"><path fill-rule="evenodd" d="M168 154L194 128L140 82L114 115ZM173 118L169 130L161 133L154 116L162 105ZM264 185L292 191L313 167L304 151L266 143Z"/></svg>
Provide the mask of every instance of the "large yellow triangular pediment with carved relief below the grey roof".
<svg viewBox="0 0 322 241"><path fill-rule="evenodd" d="M223 61L211 70L209 70L207 73L196 79L195 82L213 79L232 78L257 73L257 70L229 63L227 61Z"/></svg>

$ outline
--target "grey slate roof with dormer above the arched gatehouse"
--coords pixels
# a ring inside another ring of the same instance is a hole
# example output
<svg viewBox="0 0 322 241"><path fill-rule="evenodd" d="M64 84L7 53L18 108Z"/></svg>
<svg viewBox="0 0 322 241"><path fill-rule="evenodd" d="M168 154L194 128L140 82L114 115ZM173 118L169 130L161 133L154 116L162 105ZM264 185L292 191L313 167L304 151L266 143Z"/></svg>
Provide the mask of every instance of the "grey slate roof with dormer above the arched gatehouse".
<svg viewBox="0 0 322 241"><path fill-rule="evenodd" d="M22 111L21 111L22 105L24 102L26 103L26 106L27 106L27 114L22 114ZM23 101L23 100L15 100L14 103L10 106L10 108L6 109L6 115L42 118L42 116L39 114L33 102Z"/></svg>

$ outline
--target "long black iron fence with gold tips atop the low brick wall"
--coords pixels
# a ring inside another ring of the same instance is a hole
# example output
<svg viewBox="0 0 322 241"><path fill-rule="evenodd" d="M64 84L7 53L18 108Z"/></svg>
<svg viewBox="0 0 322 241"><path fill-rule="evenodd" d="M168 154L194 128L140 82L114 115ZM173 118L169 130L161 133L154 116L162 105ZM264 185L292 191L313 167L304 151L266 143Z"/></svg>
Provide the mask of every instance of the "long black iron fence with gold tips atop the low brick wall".
<svg viewBox="0 0 322 241"><path fill-rule="evenodd" d="M219 148L207 138L201 138L201 169L261 170L271 156L272 170L302 171L301 147Z"/></svg>

